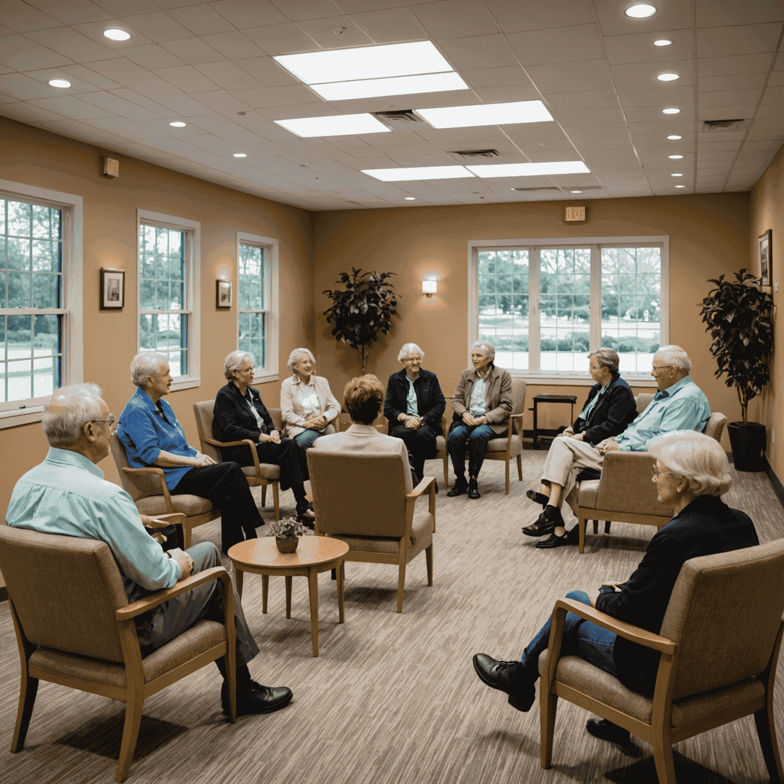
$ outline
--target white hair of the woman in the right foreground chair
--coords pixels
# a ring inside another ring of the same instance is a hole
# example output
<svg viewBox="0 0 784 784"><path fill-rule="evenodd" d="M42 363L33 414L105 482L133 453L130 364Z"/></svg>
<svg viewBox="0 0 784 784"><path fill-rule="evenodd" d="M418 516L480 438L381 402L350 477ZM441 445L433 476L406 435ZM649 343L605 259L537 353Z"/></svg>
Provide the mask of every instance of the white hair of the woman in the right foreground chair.
<svg viewBox="0 0 784 784"><path fill-rule="evenodd" d="M673 430L648 441L648 452L694 495L724 495L732 486L727 454L715 438L695 430Z"/></svg>

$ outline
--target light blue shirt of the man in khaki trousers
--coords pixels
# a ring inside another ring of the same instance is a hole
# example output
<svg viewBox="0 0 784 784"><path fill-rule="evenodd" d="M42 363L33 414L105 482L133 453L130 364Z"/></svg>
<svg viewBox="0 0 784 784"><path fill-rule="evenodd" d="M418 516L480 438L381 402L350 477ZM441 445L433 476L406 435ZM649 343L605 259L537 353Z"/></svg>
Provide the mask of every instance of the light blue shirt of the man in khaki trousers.
<svg viewBox="0 0 784 784"><path fill-rule="evenodd" d="M655 394L651 404L615 441L623 452L647 452L648 441L671 430L705 429L710 403L702 390L686 376Z"/></svg>

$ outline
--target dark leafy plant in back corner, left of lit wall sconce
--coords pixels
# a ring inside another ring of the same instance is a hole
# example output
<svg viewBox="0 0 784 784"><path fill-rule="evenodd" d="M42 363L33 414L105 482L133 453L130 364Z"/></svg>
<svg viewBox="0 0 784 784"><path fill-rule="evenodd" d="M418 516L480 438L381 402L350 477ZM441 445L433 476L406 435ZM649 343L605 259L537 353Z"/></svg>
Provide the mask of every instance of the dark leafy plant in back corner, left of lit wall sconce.
<svg viewBox="0 0 784 784"><path fill-rule="evenodd" d="M394 272L362 272L351 267L350 272L341 272L340 280L345 289L327 289L332 307L324 311L332 325L332 335L341 343L348 343L357 350L365 375L370 347L379 337L387 335L392 328L392 317L397 315L397 297L390 275Z"/></svg>

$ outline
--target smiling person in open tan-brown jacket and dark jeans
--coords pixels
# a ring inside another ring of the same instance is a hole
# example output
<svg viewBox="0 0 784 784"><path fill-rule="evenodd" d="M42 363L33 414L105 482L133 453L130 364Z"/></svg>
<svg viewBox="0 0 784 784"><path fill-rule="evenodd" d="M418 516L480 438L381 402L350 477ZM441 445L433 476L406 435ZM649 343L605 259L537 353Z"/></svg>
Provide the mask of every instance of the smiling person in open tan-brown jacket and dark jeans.
<svg viewBox="0 0 784 784"><path fill-rule="evenodd" d="M455 469L455 486L447 495L480 498L477 477L485 462L488 441L503 435L509 426L514 408L512 377L504 368L496 368L495 346L477 340L471 347L472 368L460 376L452 395L452 425L449 427L448 451ZM468 481L466 481L466 446L468 448Z"/></svg>

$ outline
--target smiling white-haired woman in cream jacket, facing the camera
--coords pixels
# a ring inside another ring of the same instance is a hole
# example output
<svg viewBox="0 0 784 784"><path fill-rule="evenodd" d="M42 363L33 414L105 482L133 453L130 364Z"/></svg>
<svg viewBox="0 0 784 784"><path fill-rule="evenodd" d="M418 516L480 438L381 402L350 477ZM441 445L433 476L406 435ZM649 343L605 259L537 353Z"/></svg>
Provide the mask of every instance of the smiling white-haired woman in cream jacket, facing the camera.
<svg viewBox="0 0 784 784"><path fill-rule="evenodd" d="M307 348L289 354L286 366L292 374L281 383L281 416L285 433L307 452L320 436L335 432L340 404L324 376L314 374L316 360Z"/></svg>

